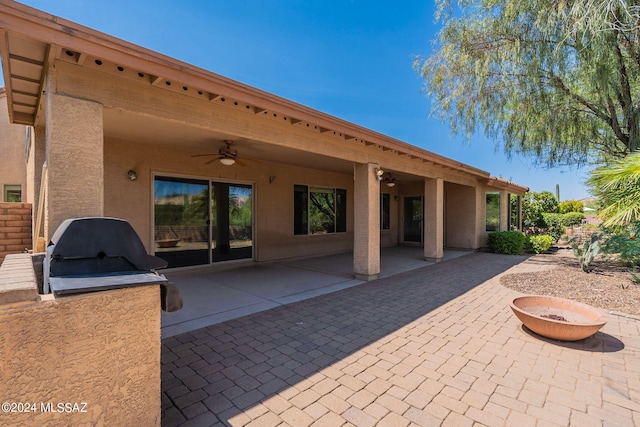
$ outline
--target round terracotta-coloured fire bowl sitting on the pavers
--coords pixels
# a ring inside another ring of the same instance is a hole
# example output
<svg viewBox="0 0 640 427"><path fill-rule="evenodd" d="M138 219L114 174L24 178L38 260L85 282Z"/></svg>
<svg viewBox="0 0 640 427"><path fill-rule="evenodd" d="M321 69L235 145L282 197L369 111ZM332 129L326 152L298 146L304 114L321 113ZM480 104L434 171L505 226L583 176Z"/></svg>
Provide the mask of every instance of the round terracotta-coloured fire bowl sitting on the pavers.
<svg viewBox="0 0 640 427"><path fill-rule="evenodd" d="M578 341L598 332L607 317L590 305L564 298L525 295L511 302L520 321L543 337L560 341Z"/></svg>

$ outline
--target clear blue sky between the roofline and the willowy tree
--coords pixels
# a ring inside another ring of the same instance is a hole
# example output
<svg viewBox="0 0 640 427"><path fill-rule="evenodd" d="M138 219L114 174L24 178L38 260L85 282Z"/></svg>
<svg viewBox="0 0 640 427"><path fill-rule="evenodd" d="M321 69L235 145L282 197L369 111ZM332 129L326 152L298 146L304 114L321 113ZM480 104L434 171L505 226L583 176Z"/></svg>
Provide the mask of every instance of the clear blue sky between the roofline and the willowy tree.
<svg viewBox="0 0 640 427"><path fill-rule="evenodd" d="M26 0L22 3L238 80L561 200L588 197L585 170L508 159L429 117L412 68L438 27L428 0Z"/></svg>

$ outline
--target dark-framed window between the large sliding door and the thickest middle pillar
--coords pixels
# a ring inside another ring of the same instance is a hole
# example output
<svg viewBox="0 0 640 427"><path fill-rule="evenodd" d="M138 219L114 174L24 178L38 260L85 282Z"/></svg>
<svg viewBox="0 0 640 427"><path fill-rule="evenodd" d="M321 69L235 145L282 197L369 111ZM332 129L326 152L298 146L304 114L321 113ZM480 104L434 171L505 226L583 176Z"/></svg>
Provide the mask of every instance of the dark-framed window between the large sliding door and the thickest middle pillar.
<svg viewBox="0 0 640 427"><path fill-rule="evenodd" d="M347 190L296 185L293 193L294 234L347 231Z"/></svg>

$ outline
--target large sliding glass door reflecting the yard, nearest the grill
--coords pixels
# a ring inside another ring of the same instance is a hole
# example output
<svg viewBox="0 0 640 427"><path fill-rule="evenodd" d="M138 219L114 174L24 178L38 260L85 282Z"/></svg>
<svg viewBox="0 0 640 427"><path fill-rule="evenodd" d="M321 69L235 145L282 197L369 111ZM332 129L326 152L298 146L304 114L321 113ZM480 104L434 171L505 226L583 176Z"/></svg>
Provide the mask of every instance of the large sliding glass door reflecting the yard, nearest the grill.
<svg viewBox="0 0 640 427"><path fill-rule="evenodd" d="M253 187L154 180L155 254L169 268L253 258Z"/></svg>

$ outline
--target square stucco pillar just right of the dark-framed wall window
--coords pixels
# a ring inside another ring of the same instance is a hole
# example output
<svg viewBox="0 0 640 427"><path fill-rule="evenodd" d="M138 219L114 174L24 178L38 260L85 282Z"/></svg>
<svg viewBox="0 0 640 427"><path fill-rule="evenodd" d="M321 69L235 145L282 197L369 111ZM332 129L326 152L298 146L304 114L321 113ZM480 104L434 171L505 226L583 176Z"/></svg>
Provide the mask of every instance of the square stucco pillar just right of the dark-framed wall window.
<svg viewBox="0 0 640 427"><path fill-rule="evenodd" d="M380 182L373 163L354 170L353 270L356 279L374 280L380 273Z"/></svg>

